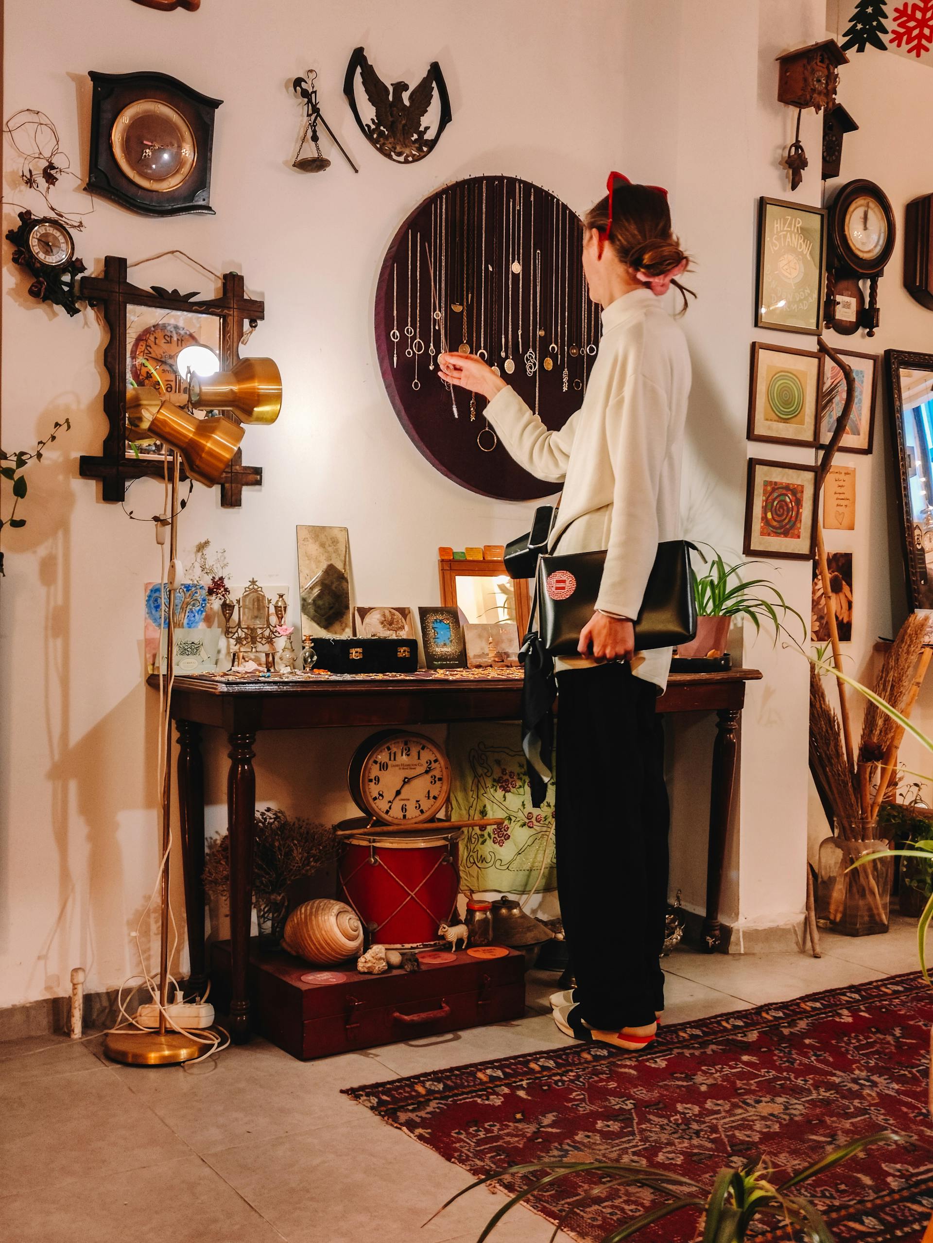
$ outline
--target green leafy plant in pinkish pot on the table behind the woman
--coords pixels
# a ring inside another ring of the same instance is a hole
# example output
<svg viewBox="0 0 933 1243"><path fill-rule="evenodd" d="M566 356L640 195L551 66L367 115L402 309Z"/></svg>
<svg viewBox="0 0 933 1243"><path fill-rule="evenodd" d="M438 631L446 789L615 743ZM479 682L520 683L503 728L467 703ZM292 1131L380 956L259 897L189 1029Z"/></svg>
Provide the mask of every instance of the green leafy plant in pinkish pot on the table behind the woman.
<svg viewBox="0 0 933 1243"><path fill-rule="evenodd" d="M762 562L739 561L727 566L714 548L709 552L709 559L704 561L706 573L697 574L691 568L697 605L697 636L691 643L680 645L678 656L722 656L729 643L729 626L734 618L748 618L755 633L760 631L763 622L770 622L776 643L781 631L788 633L784 623L791 613L800 623L806 640L806 623L773 583L767 578L742 578L749 566L759 566Z"/></svg>

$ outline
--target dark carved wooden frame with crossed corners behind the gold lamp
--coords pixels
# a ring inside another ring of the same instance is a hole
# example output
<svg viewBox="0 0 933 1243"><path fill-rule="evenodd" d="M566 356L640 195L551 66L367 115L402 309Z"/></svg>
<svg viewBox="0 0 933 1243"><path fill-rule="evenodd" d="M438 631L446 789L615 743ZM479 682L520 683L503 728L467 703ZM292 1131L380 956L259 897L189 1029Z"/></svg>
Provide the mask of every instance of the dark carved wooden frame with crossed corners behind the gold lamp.
<svg viewBox="0 0 933 1243"><path fill-rule="evenodd" d="M103 398L109 430L101 455L82 456L80 470L83 479L102 481L104 501L122 501L133 480L143 475L162 479L165 469L164 447L140 439L127 424L127 389L154 388L162 398L186 405L188 373L183 375L184 368L176 365L181 351L200 346L215 355L220 370L230 370L239 362L247 324L255 328L263 318L265 303L246 296L239 272L222 277L222 292L216 298L158 285L130 285L125 259L113 255L104 259L103 276L83 277L81 297L101 308L109 333L103 355L109 378ZM221 418L239 421L230 410ZM243 466L237 449L220 485L220 503L239 506L243 486L261 482L262 470Z"/></svg>

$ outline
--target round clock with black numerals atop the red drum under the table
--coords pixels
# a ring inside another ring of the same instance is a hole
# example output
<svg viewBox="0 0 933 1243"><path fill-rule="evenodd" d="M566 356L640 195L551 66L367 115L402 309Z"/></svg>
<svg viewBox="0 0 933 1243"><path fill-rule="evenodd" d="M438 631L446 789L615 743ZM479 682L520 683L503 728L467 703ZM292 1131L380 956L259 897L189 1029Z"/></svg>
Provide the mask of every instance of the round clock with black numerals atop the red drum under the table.
<svg viewBox="0 0 933 1243"><path fill-rule="evenodd" d="M360 810L386 824L419 824L442 810L450 793L450 763L420 733L368 740L350 764L350 793Z"/></svg>

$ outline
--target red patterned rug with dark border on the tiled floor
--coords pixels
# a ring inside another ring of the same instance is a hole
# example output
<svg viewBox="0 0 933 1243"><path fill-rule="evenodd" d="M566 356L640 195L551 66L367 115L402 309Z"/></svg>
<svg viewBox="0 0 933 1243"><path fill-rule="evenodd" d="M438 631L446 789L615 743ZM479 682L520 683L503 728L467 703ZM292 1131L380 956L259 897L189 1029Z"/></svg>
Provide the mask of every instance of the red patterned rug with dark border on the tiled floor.
<svg viewBox="0 0 933 1243"><path fill-rule="evenodd" d="M717 1170L755 1154L778 1171L799 1170L885 1129L933 1144L931 1027L933 993L912 972L663 1027L644 1053L574 1044L347 1095L477 1177L524 1161L626 1161L708 1186ZM526 1203L558 1222L585 1191L595 1195L564 1222L585 1243L657 1202L647 1191L600 1188L588 1175ZM839 1243L913 1243L933 1213L933 1155L878 1145L801 1191ZM637 1239L680 1243L696 1228L687 1212Z"/></svg>

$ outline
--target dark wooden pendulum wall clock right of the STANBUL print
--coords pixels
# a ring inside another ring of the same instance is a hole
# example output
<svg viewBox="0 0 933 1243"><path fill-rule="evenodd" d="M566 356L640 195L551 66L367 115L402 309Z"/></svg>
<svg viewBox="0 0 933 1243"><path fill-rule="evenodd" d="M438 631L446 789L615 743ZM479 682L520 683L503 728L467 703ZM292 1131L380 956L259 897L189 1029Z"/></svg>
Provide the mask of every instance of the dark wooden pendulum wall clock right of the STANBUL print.
<svg viewBox="0 0 933 1243"><path fill-rule="evenodd" d="M894 213L881 186L861 179L840 186L829 214L827 327L845 336L867 328L875 336L881 319L878 277L891 260L896 236Z"/></svg>

